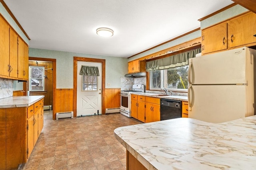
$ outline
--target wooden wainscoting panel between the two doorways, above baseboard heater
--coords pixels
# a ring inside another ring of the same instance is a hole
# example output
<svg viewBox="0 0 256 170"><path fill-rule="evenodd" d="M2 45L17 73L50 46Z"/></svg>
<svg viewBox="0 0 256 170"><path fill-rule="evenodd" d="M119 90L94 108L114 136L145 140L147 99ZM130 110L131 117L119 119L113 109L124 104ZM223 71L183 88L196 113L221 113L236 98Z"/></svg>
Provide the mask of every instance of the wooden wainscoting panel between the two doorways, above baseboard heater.
<svg viewBox="0 0 256 170"><path fill-rule="evenodd" d="M73 111L73 93L71 88L59 88L56 89L56 113ZM54 120L56 119L56 113L54 113Z"/></svg>

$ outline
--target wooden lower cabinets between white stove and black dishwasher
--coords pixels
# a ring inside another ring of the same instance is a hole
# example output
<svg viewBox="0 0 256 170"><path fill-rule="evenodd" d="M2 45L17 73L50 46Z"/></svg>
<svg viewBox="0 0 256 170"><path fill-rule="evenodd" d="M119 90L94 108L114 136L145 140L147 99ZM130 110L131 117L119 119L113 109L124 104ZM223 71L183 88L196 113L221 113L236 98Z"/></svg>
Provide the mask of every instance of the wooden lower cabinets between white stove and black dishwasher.
<svg viewBox="0 0 256 170"><path fill-rule="evenodd" d="M160 121L160 98L131 95L131 116L144 122Z"/></svg>

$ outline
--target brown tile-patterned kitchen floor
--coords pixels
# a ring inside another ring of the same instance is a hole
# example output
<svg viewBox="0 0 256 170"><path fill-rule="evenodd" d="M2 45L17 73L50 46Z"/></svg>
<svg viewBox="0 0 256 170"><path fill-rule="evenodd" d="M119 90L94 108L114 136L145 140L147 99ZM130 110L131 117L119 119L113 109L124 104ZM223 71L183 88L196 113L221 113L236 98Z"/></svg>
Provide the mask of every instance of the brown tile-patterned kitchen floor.
<svg viewBox="0 0 256 170"><path fill-rule="evenodd" d="M44 128L24 170L125 170L126 149L114 129L142 122L120 113L52 120Z"/></svg>

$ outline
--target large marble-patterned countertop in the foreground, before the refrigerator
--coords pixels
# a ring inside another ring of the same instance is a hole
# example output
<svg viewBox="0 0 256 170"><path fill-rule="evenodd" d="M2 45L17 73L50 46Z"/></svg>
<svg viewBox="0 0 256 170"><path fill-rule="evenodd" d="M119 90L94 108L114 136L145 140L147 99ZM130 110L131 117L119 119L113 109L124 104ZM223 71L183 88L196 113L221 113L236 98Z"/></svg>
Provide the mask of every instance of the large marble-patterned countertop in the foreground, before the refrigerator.
<svg viewBox="0 0 256 170"><path fill-rule="evenodd" d="M170 119L114 135L149 170L256 169L256 115L225 123Z"/></svg>

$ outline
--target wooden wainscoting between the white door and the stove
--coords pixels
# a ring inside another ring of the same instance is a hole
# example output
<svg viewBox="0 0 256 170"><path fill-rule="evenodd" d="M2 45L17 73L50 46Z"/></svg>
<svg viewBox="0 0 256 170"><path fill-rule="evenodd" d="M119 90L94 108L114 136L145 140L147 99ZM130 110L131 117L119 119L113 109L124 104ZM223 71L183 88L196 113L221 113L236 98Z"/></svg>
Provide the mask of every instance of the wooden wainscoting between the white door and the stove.
<svg viewBox="0 0 256 170"><path fill-rule="evenodd" d="M120 107L120 88L105 89L105 107L116 108Z"/></svg>

